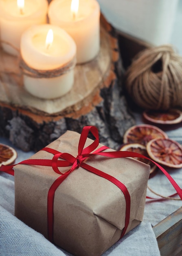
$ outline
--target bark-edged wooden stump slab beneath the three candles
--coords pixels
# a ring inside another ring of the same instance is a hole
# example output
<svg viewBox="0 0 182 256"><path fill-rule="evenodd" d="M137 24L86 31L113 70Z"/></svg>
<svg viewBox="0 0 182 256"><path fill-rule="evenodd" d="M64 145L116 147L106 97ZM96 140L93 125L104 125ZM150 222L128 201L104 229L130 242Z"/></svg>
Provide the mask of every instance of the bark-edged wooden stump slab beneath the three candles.
<svg viewBox="0 0 182 256"><path fill-rule="evenodd" d="M100 142L117 149L134 125L123 93L124 69L115 29L101 15L101 49L75 67L75 83L65 96L44 100L24 90L19 59L0 49L0 136L24 151L40 150L66 130L99 130Z"/></svg>

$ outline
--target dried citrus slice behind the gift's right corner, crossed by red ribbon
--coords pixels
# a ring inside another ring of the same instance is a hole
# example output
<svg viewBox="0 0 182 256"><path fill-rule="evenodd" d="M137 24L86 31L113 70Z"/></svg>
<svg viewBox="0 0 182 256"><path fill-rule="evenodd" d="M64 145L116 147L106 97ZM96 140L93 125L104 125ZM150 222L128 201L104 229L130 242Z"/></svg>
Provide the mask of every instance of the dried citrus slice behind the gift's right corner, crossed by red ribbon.
<svg viewBox="0 0 182 256"><path fill-rule="evenodd" d="M139 143L131 143L131 144L125 144L123 146L121 146L121 148L119 149L120 151L131 151L131 152L136 152L136 153L139 153L139 154L142 154L146 157L149 157L148 153L147 153L147 149L144 145L142 144L139 144ZM150 167L151 167L151 171L150 171L150 174L153 173L157 166L155 164L153 164L153 162L151 162L150 160L147 160L145 158L142 158L142 157L133 157L145 164L149 164Z"/></svg>

